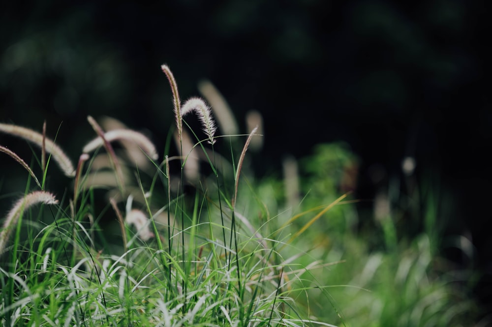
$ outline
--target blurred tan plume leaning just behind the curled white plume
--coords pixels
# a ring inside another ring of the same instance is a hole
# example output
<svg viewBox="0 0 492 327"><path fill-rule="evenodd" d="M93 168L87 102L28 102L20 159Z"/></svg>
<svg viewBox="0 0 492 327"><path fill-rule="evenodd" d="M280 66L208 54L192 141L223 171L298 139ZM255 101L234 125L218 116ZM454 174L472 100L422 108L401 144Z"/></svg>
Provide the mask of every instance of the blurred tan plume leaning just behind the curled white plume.
<svg viewBox="0 0 492 327"><path fill-rule="evenodd" d="M207 99L208 103L210 103L212 112L222 133L225 135L238 134L238 123L232 114L232 110L222 94L215 88L214 84L208 80L201 81L198 83L198 90Z"/></svg>

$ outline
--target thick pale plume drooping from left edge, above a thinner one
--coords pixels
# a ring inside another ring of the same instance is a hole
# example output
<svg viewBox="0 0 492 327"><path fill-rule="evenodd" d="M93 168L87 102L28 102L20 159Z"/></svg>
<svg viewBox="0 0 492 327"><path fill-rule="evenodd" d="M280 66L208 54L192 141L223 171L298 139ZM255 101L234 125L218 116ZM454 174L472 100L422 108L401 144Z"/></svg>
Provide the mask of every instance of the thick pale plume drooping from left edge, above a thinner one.
<svg viewBox="0 0 492 327"><path fill-rule="evenodd" d="M0 123L0 132L7 133L10 135L18 136L29 142L34 143L39 148L43 148L43 135L33 131L32 129ZM66 154L58 147L53 141L48 138L44 139L45 149L47 153L50 153L55 160L55 162L60 166L63 173L68 177L75 176L75 169L70 159Z"/></svg>

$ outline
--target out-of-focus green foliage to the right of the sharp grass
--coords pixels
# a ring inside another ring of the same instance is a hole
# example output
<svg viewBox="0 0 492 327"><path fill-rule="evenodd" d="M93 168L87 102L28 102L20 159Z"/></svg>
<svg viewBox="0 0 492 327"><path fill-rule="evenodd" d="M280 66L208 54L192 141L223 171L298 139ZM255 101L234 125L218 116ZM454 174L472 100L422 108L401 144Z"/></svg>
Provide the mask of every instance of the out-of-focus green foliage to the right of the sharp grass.
<svg viewBox="0 0 492 327"><path fill-rule="evenodd" d="M302 229L346 188L346 174L354 172L358 160L346 144L316 146L311 156L301 160L303 201L298 208L280 210L280 216L272 217L269 225L280 226L281 221L304 212L291 224L294 231ZM258 198L270 212L276 212L282 205L273 200L276 197L272 194L281 193L274 191L276 187L285 190L283 185L271 180L262 185ZM362 212L362 216L357 201L339 204L288 242L288 247L281 248L284 258L299 249L306 251L307 256L294 261L301 267L312 267L320 259L334 264L305 272L304 286L314 289L300 291L298 299L309 306L313 316L337 326L459 327L490 323L489 318L479 323L486 310L471 297L478 276L471 264L473 250L463 236L448 237L448 244L443 243L440 221L447 211L439 190L426 183L419 187L413 192L386 188L389 194L375 199L371 203L373 211ZM387 202L387 211L378 212L378 201ZM408 210L409 202L418 209ZM425 221L423 232L415 236L401 224L402 211L408 219ZM359 218L369 219L372 224L361 224ZM375 241L378 246L374 246ZM445 259L440 249L447 246L470 256L468 264L459 266Z"/></svg>

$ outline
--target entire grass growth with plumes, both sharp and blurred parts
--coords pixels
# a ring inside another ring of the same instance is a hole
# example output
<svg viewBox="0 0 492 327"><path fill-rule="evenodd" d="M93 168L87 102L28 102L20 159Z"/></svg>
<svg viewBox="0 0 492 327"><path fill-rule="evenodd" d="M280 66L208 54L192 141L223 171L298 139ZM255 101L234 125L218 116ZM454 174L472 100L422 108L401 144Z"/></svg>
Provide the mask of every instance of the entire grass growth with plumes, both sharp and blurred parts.
<svg viewBox="0 0 492 327"><path fill-rule="evenodd" d="M88 117L96 138L74 168L45 128L0 124L42 152L30 167L0 147L27 178L0 231L2 326L470 326L478 317L473 273L439 255L439 192L390 188L361 221L350 195L358 159L340 144L288 159L284 178L255 180L256 129L215 135L214 108L182 105L162 70L178 155L166 146L159 157L148 137ZM49 192L57 174L73 191ZM401 226L409 203L424 226L416 237Z"/></svg>

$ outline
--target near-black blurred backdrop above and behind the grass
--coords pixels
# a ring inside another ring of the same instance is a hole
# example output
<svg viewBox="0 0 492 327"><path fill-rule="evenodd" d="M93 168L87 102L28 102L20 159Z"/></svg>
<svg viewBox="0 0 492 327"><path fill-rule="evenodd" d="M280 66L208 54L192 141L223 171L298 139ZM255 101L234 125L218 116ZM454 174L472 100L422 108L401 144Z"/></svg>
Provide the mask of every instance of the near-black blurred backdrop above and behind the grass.
<svg viewBox="0 0 492 327"><path fill-rule="evenodd" d="M492 303L485 1L161 2L2 1L0 121L41 130L46 119L50 136L61 124L58 143L75 159L93 137L87 115L108 115L152 133L162 154L174 123L167 63L183 100L211 80L242 132L248 110L262 113L258 176L280 176L285 154L345 141L361 158L358 196L370 199L370 167L391 176L415 157L450 199L446 233L475 246L475 296ZM21 141L0 142L29 157ZM14 181L2 179L7 201L24 191Z"/></svg>

